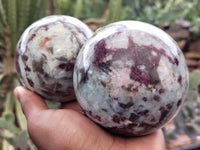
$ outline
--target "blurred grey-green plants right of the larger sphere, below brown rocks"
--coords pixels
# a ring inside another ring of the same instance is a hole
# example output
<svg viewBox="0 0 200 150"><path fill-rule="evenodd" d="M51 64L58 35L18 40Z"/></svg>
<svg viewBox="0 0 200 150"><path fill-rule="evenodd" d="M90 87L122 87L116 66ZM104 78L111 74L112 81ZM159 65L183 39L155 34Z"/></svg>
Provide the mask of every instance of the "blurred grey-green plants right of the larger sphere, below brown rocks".
<svg viewBox="0 0 200 150"><path fill-rule="evenodd" d="M186 134L192 140L197 139L200 132L200 70L190 73L189 91L186 102L175 117L172 129L166 131L168 139L176 139L178 134Z"/></svg>

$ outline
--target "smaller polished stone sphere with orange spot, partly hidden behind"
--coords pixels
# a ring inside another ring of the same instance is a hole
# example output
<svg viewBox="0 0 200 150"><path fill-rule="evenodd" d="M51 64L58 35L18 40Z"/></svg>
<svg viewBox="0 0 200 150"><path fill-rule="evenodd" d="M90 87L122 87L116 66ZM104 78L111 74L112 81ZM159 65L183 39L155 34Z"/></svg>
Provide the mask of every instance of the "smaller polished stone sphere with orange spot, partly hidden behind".
<svg viewBox="0 0 200 150"><path fill-rule="evenodd" d="M16 50L16 69L23 85L48 100L75 99L74 63L92 34L87 25L70 16L48 16L30 25Z"/></svg>

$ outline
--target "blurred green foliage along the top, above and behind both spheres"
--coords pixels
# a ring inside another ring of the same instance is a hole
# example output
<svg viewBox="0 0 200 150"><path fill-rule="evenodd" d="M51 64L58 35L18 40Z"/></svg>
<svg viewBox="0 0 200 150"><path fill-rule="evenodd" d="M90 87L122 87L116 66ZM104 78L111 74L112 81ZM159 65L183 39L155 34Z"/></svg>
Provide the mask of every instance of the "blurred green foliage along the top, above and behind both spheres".
<svg viewBox="0 0 200 150"><path fill-rule="evenodd" d="M199 0L54 0L55 14L75 16L81 20L104 18L109 24L118 20L139 20L156 26L188 20L194 38L200 36Z"/></svg>

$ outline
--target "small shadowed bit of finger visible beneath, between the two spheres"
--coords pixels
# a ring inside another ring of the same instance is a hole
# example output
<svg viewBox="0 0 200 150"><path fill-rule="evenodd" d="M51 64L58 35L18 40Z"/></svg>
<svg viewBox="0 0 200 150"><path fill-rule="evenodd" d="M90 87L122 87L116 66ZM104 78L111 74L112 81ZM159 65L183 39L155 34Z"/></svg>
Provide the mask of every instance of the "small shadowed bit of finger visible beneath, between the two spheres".
<svg viewBox="0 0 200 150"><path fill-rule="evenodd" d="M77 101L61 103L60 109L72 109L72 110L75 110L75 111L77 111L81 114L84 114L83 109L81 108L81 106L78 104Z"/></svg>

